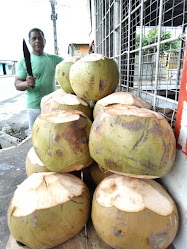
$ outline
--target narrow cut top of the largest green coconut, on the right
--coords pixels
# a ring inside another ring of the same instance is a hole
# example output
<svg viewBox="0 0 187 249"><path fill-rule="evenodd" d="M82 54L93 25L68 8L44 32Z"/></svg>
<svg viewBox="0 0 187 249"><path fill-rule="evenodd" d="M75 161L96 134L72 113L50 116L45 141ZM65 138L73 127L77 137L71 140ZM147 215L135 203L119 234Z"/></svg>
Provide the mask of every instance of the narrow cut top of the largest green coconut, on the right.
<svg viewBox="0 0 187 249"><path fill-rule="evenodd" d="M111 107L104 108L106 113L119 116L137 116L137 117L153 117L157 119L164 119L164 117L158 112L154 112L145 108L139 108L136 106L116 104Z"/></svg>

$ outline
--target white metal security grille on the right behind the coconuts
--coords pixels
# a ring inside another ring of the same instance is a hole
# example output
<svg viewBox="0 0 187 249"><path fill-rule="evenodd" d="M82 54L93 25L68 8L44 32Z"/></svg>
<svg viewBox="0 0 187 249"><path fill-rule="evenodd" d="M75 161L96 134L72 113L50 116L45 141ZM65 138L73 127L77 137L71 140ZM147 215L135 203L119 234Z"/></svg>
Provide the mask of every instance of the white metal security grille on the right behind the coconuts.
<svg viewBox="0 0 187 249"><path fill-rule="evenodd" d="M186 0L94 0L97 53L119 67L117 91L153 105L175 127L187 25Z"/></svg>

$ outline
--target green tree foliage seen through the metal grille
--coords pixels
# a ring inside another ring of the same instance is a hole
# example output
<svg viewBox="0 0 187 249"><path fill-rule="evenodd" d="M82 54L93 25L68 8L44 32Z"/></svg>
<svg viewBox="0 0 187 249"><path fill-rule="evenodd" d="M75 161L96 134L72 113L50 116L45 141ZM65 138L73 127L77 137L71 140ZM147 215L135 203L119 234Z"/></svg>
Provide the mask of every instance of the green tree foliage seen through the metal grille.
<svg viewBox="0 0 187 249"><path fill-rule="evenodd" d="M171 38L171 31L161 30L161 41L170 39ZM152 28L149 30L147 35L143 35L142 37L142 47L156 43L158 41L158 29ZM140 34L136 34L136 48L140 46ZM167 53L167 52L175 52L179 49L179 41L172 41L167 42L160 45L160 52ZM145 52L153 52L156 51L157 47L150 47L146 49Z"/></svg>

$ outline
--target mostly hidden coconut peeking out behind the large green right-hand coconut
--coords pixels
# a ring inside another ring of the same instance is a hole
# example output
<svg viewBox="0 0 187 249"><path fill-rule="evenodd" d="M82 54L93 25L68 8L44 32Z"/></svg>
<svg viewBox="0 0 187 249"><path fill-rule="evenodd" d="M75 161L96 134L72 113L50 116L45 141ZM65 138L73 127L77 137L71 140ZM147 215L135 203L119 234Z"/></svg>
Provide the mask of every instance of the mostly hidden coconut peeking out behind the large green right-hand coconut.
<svg viewBox="0 0 187 249"><path fill-rule="evenodd" d="M97 101L93 111L94 119L99 111L101 111L104 107L115 104L133 105L146 109L152 109L152 105L150 103L136 96L134 93L115 92Z"/></svg>

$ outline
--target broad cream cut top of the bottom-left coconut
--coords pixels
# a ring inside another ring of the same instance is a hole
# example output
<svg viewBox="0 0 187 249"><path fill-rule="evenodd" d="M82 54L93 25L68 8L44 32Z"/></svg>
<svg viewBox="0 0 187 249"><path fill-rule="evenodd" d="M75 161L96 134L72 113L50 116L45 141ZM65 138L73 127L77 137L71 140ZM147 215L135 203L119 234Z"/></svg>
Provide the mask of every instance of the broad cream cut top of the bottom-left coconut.
<svg viewBox="0 0 187 249"><path fill-rule="evenodd" d="M34 173L18 186L11 202L12 215L26 216L36 210L63 204L84 191L84 183L71 174Z"/></svg>

